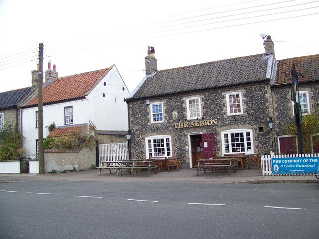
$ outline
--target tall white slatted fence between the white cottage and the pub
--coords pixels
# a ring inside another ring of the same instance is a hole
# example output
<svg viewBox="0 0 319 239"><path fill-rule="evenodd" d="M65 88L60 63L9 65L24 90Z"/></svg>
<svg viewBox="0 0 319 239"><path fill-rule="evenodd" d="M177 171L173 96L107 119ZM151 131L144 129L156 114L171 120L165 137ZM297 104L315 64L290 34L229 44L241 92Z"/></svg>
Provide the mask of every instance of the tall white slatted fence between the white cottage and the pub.
<svg viewBox="0 0 319 239"><path fill-rule="evenodd" d="M129 159L128 143L106 143L99 145L99 162Z"/></svg>

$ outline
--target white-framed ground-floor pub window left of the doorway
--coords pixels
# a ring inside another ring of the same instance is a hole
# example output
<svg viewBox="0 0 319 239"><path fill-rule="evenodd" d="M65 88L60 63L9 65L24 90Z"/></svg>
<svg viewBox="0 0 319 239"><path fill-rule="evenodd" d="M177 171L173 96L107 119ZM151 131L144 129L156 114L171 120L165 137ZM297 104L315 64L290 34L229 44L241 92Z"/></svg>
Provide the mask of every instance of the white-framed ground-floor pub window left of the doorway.
<svg viewBox="0 0 319 239"><path fill-rule="evenodd" d="M145 138L147 158L171 156L171 136L155 135Z"/></svg>

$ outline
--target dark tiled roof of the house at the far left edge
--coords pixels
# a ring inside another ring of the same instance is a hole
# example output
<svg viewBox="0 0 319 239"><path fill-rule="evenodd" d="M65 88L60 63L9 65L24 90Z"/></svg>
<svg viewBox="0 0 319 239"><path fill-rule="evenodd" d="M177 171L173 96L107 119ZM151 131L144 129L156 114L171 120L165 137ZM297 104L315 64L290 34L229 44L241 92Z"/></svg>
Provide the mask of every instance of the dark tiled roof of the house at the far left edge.
<svg viewBox="0 0 319 239"><path fill-rule="evenodd" d="M22 101L32 90L32 87L26 87L13 91L0 93L0 108L15 107Z"/></svg>

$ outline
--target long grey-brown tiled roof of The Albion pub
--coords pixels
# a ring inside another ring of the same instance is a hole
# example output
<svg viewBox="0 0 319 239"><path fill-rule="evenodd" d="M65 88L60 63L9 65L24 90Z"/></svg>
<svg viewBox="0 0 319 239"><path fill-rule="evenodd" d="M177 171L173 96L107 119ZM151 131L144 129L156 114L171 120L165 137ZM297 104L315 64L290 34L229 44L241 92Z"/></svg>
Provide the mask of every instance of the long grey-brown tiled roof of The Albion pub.
<svg viewBox="0 0 319 239"><path fill-rule="evenodd" d="M145 80L130 99L165 96L266 79L264 54L213 61L157 71Z"/></svg>

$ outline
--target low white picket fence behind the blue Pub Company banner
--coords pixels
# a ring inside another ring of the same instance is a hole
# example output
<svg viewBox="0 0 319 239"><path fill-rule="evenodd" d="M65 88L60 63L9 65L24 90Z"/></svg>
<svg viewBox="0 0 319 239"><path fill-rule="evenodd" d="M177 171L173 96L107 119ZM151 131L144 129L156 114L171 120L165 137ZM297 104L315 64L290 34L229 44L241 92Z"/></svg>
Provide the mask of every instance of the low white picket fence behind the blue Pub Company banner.
<svg viewBox="0 0 319 239"><path fill-rule="evenodd" d="M318 154L319 156L319 154ZM271 152L271 155L262 155L261 156L261 173L263 176L280 176L280 175L313 175L309 174L273 174L272 171L272 158L295 158L295 157L317 157L317 153L315 154L282 154L275 155Z"/></svg>

